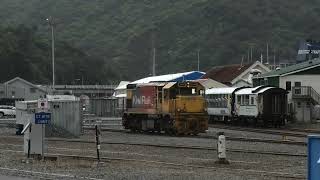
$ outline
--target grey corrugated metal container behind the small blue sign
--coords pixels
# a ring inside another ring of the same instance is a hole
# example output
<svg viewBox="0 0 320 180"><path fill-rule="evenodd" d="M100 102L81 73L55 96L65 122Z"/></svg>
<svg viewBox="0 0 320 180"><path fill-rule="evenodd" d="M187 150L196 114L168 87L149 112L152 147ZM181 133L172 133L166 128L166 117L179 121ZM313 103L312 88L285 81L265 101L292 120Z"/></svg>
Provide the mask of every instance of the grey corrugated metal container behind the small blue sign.
<svg viewBox="0 0 320 180"><path fill-rule="evenodd" d="M81 135L83 115L79 98L49 99L48 108L48 112L51 113L51 122L46 125L47 137ZM27 123L34 122L36 112L39 112L38 101L16 102L17 134L20 134Z"/></svg>

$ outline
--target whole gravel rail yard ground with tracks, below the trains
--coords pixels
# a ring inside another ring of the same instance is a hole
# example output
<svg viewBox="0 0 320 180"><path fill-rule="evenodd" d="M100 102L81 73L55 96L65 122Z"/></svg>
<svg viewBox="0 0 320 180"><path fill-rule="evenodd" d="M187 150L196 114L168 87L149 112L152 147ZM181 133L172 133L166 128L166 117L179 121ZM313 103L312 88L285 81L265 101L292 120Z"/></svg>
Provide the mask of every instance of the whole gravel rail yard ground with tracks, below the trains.
<svg viewBox="0 0 320 180"><path fill-rule="evenodd" d="M123 130L119 118L87 117L80 138L48 138L45 160L29 160L13 121L0 120L0 172L32 179L306 179L306 136L318 133L212 124L207 133L175 137ZM226 135L228 165L216 163L217 132Z"/></svg>

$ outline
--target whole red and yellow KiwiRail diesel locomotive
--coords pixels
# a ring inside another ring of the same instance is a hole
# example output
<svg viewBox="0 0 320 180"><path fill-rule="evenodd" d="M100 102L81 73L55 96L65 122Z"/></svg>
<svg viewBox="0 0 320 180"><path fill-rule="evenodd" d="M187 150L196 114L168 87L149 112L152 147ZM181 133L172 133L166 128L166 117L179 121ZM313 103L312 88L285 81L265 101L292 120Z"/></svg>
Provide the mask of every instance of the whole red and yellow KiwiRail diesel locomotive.
<svg viewBox="0 0 320 180"><path fill-rule="evenodd" d="M208 129L205 88L195 81L129 84L122 124L132 131L198 134Z"/></svg>

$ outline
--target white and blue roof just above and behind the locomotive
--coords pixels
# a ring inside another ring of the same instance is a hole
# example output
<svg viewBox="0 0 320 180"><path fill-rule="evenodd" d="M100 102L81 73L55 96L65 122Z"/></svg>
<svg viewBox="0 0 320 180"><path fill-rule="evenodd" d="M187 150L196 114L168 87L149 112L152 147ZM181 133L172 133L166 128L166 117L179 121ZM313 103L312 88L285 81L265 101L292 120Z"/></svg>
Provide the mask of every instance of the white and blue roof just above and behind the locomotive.
<svg viewBox="0 0 320 180"><path fill-rule="evenodd" d="M160 76L150 76L143 79L139 79L131 82L130 84L143 84L150 82L169 82L169 81L184 81L184 80L196 80L203 76L205 73L200 71L190 71L177 74L166 74Z"/></svg>

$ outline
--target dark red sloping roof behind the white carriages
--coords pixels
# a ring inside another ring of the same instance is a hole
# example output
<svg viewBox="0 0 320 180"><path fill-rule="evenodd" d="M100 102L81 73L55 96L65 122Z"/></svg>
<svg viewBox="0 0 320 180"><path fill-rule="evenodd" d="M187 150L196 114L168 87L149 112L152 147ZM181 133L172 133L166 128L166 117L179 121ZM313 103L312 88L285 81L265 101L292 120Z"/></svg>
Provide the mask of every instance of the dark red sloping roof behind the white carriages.
<svg viewBox="0 0 320 180"><path fill-rule="evenodd" d="M244 65L232 64L227 66L216 66L207 71L201 78L211 78L230 86L231 81L247 70L251 65L252 63Z"/></svg>

